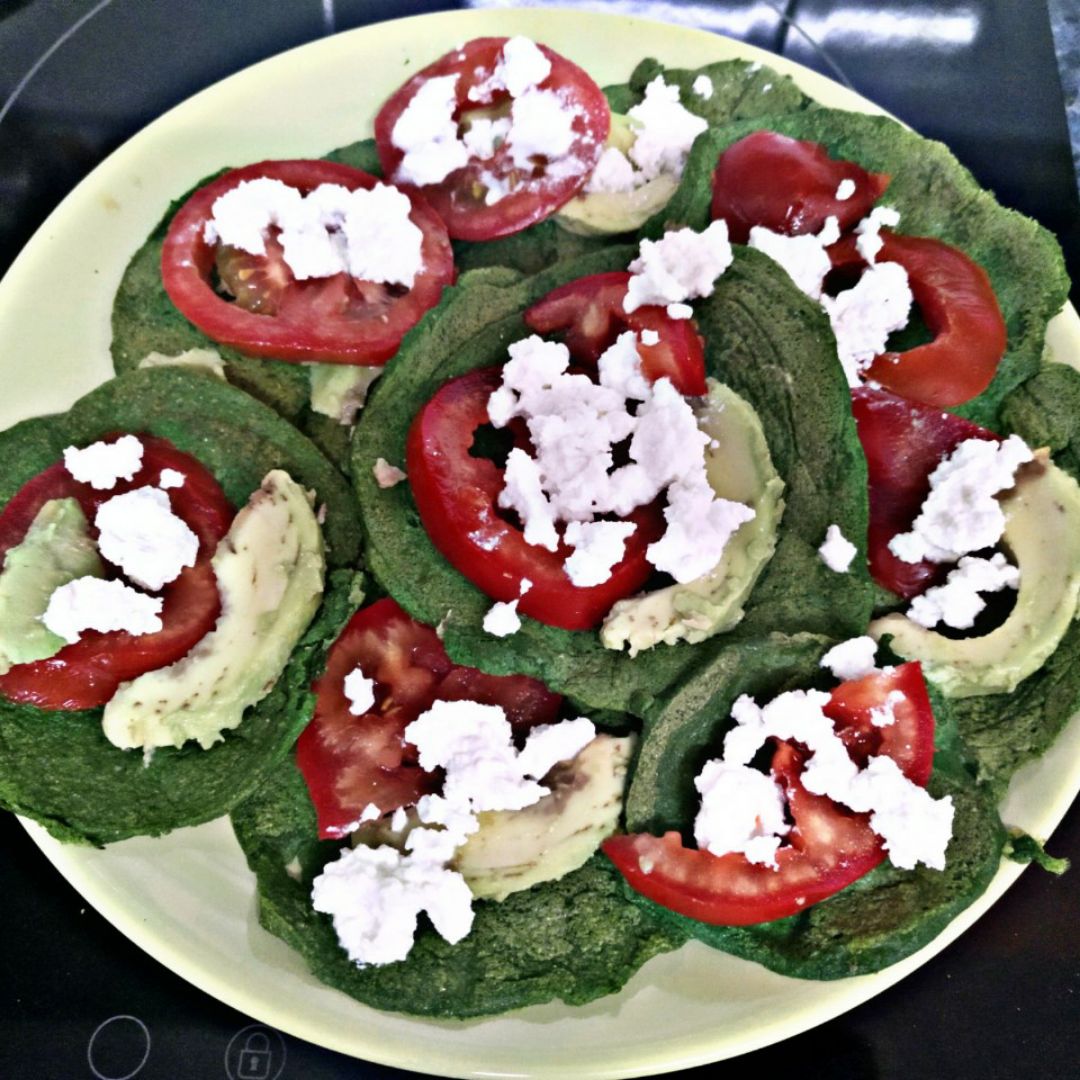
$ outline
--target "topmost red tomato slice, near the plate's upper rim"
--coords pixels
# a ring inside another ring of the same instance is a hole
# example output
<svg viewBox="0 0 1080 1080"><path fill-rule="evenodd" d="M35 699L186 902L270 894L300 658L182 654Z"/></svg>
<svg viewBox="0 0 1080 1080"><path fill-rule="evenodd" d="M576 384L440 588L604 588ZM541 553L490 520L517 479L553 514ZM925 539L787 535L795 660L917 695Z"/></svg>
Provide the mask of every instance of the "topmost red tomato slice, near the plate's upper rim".
<svg viewBox="0 0 1080 1080"><path fill-rule="evenodd" d="M404 158L392 140L394 124L428 80L458 77L454 119L459 122L470 110L489 109L510 100L505 90L477 90L490 79L507 40L476 38L429 64L390 97L375 118L375 139L386 176L394 176ZM455 240L494 240L543 220L569 202L596 167L611 124L607 98L576 64L546 45L538 48L551 60L551 73L538 89L553 91L565 108L577 110L570 149L566 157L555 162L534 158L531 172L523 175L512 158L511 137L495 151L492 158L473 158L441 183L421 188ZM474 91L476 96L470 97ZM491 205L484 201L488 177L511 189Z"/></svg>

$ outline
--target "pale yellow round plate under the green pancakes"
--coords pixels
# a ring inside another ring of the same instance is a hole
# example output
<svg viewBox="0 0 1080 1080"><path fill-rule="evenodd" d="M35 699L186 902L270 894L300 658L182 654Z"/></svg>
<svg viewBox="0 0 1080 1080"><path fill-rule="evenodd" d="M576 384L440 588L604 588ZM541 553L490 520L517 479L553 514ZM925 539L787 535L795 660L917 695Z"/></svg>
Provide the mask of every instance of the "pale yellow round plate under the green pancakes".
<svg viewBox="0 0 1080 1080"><path fill-rule="evenodd" d="M880 112L836 83L725 38L582 12L453 12L313 42L233 76L152 123L96 168L42 226L0 284L0 428L67 408L107 379L109 311L127 259L168 202L222 165L316 157L370 132L383 98L417 67L480 35L525 33L600 83L643 56L684 67L746 57L789 73L818 100ZM63 305L57 296L63 294ZM58 314L59 313L59 314ZM1080 320L1055 320L1059 355L1080 354ZM1047 836L1080 791L1080 723L1016 777L1010 824ZM255 918L253 879L228 822L106 851L30 835L60 873L136 944L257 1020L346 1054L449 1076L642 1076L740 1054L806 1030L903 978L978 918L990 889L930 946L878 974L784 978L693 944L647 963L620 994L473 1023L409 1020L320 985Z"/></svg>

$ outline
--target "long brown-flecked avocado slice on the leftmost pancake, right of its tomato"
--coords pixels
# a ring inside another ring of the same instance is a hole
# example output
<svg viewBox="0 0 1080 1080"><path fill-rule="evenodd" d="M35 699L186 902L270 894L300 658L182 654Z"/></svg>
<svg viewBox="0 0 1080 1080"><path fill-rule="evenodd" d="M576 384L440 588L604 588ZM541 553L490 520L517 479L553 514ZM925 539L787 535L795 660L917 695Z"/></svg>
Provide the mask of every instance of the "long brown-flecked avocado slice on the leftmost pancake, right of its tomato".
<svg viewBox="0 0 1080 1080"><path fill-rule="evenodd" d="M114 746L178 747L193 739L208 750L269 693L319 608L325 571L322 532L288 473L267 473L213 567L217 625L176 663L117 690L102 717Z"/></svg>

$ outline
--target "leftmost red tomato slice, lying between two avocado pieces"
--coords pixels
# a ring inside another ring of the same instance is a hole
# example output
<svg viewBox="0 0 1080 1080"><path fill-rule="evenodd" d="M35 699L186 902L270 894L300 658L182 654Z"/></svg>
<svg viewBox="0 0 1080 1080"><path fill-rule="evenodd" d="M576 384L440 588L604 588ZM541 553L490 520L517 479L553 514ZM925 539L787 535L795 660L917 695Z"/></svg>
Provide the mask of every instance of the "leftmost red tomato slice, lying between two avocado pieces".
<svg viewBox="0 0 1080 1080"><path fill-rule="evenodd" d="M173 512L199 537L194 566L161 591L162 629L156 634L86 631L48 660L16 664L0 675L0 694L10 701L40 708L95 708L104 705L121 683L144 672L164 667L187 654L217 622L221 606L210 561L233 517L214 476L200 462L181 454L172 443L139 435L143 467L130 481L107 491L79 484L57 462L28 481L0 514L0 556L22 541L41 507L50 499L79 500L93 532L97 508L113 496L136 487L156 485L162 469L184 473L181 487L170 488Z"/></svg>

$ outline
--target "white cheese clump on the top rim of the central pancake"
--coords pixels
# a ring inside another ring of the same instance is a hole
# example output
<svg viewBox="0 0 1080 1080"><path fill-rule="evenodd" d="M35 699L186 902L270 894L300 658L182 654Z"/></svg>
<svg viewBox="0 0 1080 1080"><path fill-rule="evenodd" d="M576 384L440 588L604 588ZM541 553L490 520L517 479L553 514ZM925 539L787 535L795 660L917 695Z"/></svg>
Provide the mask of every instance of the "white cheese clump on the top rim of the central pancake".
<svg viewBox="0 0 1080 1080"><path fill-rule="evenodd" d="M622 301L626 312L643 305L685 303L711 296L716 279L733 258L726 221L713 221L703 232L675 229L661 240L643 240L630 265L631 279Z"/></svg>

